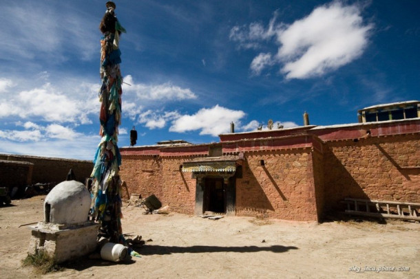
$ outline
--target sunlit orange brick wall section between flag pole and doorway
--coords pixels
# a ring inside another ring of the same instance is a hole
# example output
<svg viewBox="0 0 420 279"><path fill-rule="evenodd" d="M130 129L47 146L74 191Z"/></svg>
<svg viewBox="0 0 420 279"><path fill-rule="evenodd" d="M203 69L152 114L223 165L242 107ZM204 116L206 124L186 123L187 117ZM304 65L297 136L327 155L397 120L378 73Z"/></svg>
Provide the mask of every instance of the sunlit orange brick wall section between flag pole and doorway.
<svg viewBox="0 0 420 279"><path fill-rule="evenodd" d="M132 155L123 158L120 178L127 183L129 195L143 198L154 194L171 210L193 214L196 203L196 179L191 173L182 172L180 165L189 161L185 157L153 157ZM123 198L128 199L125 189Z"/></svg>

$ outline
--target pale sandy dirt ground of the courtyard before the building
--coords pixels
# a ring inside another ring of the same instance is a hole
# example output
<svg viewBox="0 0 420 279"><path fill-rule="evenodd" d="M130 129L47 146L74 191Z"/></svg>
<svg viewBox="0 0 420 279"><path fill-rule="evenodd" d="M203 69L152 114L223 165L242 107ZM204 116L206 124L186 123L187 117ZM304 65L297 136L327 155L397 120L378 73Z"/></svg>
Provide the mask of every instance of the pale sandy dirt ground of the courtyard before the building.
<svg viewBox="0 0 420 279"><path fill-rule="evenodd" d="M43 199L0 207L0 278L420 278L420 223L209 220L145 215L127 203L123 232L150 240L137 250L141 258L110 263L86 257L39 275L21 260L30 240L25 224L43 220Z"/></svg>

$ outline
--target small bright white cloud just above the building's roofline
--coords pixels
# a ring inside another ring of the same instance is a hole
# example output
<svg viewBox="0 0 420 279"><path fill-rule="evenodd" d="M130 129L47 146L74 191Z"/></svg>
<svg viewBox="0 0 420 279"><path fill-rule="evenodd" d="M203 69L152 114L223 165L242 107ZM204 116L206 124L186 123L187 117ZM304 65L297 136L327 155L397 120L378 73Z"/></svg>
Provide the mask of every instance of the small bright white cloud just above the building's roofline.
<svg viewBox="0 0 420 279"><path fill-rule="evenodd" d="M238 123L243 118L243 111L233 111L218 104L211 109L200 109L193 115L182 115L171 123L169 131L184 133L201 130L200 135L217 136L228 133L230 123Z"/></svg>

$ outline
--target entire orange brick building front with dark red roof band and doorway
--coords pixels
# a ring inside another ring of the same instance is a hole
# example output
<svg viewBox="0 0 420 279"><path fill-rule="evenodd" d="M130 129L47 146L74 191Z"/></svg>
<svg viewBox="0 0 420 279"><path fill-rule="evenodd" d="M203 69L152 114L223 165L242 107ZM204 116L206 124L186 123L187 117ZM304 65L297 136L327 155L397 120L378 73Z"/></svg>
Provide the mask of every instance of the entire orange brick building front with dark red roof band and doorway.
<svg viewBox="0 0 420 279"><path fill-rule="evenodd" d="M322 221L346 197L420 202L420 119L220 135L120 148L125 197L206 211Z"/></svg>

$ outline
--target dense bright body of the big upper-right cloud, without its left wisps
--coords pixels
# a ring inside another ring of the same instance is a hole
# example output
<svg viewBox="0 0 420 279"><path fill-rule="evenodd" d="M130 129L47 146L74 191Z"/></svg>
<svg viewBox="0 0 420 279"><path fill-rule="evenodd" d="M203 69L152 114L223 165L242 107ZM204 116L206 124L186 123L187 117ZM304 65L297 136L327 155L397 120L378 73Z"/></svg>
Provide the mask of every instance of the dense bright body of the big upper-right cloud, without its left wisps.
<svg viewBox="0 0 420 279"><path fill-rule="evenodd" d="M286 78L308 78L346 65L361 55L371 28L363 25L355 5L335 2L316 8L278 37L278 56L286 60L282 72Z"/></svg>

